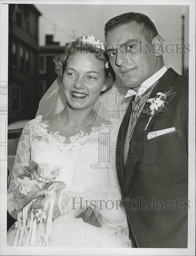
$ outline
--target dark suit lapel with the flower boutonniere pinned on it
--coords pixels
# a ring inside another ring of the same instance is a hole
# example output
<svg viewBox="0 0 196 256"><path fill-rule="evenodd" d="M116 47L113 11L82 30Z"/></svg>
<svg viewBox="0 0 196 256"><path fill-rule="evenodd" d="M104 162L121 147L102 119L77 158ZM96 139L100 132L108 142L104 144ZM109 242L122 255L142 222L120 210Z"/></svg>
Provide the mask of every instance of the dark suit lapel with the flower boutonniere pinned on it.
<svg viewBox="0 0 196 256"><path fill-rule="evenodd" d="M149 98L153 98L156 93L158 92L168 92L169 90L171 90L172 85L176 79L176 77L178 76L178 73L176 73L172 68L169 68L164 75L160 78L159 82L155 85L154 89L152 90ZM173 97L175 96L175 94L171 95L171 97L169 97L168 99L168 103L169 101L171 101L173 99ZM147 108L147 103L144 106L144 109ZM166 108L163 108L161 112L166 111ZM134 131L133 131L133 135L131 138L131 141L129 143L129 152L128 152L128 157L127 157L127 163L126 163L126 168L125 168L125 186L124 186L124 190L126 188L126 185L128 185L126 182L128 181L128 178L130 177L130 175L132 174L132 171L137 163L138 160L142 160L140 159L140 153L142 151L142 148L145 144L146 141L146 136L149 132L150 126L153 123L154 119L161 113L158 112L156 113L153 118L151 119L146 131L144 130L150 116L147 114L143 114L141 113L139 115L139 118L136 122L136 125L134 127Z"/></svg>

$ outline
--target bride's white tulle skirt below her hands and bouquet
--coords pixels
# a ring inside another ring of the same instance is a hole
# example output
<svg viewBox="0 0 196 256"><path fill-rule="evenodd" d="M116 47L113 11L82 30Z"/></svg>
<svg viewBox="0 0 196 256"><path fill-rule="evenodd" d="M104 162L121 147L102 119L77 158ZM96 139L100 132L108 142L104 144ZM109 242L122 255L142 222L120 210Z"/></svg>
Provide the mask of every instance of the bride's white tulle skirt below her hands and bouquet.
<svg viewBox="0 0 196 256"><path fill-rule="evenodd" d="M56 226L55 222L59 225ZM60 222L59 220L55 222L53 220L53 231L51 234L53 238L51 243L52 247L124 247L117 241L115 234L107 237L107 234L104 233L102 227L92 226L89 223L84 222L82 218L74 218L71 220L65 220L64 222L61 219ZM15 228L15 225L12 225L12 227L7 231L7 246L12 246L16 236L16 231L17 228ZM42 228L40 222L38 222L34 242L35 247L39 246L40 236L45 233L46 222L43 221ZM42 240L43 239L41 239L41 247L43 246ZM29 241L31 241L31 239ZM21 244L21 246L23 245ZM30 246L30 242L29 245L26 244L24 246Z"/></svg>

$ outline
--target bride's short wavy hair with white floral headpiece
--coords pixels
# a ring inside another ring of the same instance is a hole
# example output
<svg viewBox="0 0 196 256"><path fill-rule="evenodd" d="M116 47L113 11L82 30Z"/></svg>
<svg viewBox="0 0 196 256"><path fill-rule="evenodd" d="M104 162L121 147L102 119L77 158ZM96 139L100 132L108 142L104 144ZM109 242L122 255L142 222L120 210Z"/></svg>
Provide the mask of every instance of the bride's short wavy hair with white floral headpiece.
<svg viewBox="0 0 196 256"><path fill-rule="evenodd" d="M63 73L67 66L67 61L69 59L69 56L73 53L94 54L96 59L101 60L103 62L106 84L108 86L111 86L111 84L115 81L115 73L111 68L111 66L109 65L109 68L105 67L107 61L109 60L108 55L106 54L106 51L101 47L100 48L96 47L94 44L91 44L86 41L82 41L81 37L70 42L65 48L65 53L60 56L56 56L53 59L53 61L56 64L56 68L58 69L58 76L60 77L61 81L63 78Z"/></svg>

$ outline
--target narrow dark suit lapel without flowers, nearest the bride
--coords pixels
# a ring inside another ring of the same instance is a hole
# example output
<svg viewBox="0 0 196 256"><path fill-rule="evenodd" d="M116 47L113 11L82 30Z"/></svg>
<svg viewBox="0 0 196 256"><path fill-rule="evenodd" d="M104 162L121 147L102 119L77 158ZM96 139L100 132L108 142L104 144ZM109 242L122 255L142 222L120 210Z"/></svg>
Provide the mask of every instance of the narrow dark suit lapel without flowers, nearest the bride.
<svg viewBox="0 0 196 256"><path fill-rule="evenodd" d="M125 166L124 166L124 142L125 142L125 136L127 132L127 128L129 125L130 115L132 112L132 101L131 99L129 106L127 108L126 114L123 118L123 121L121 123L119 134L117 138L117 145L116 145L116 172L117 177L119 180L119 185L121 188L121 192L123 192L124 188L124 174L125 174Z"/></svg>

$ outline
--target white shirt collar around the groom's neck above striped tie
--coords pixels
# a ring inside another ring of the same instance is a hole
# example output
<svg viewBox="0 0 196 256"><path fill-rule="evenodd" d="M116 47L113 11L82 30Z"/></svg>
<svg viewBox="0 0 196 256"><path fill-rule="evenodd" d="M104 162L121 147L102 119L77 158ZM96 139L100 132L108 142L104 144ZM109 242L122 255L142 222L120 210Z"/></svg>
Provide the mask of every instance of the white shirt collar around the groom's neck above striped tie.
<svg viewBox="0 0 196 256"><path fill-rule="evenodd" d="M167 68L165 66L163 66L159 71L157 71L155 74L153 74L151 77L149 77L148 79L146 79L139 87L139 90L136 92L133 89L129 89L127 94L125 95L124 98L136 95L139 96L141 94L143 94L144 92L146 92L148 90L148 88L150 88L156 81L158 81L163 74L167 71Z"/></svg>

